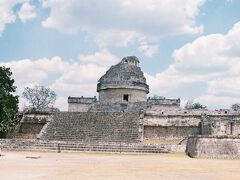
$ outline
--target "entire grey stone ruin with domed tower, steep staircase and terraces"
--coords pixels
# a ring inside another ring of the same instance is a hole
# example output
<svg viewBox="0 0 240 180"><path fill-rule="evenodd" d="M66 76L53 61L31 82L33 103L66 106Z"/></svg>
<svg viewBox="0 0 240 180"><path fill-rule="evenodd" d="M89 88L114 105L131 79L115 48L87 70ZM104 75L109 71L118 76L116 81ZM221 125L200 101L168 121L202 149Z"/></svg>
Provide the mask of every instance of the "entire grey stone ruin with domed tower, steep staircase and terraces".
<svg viewBox="0 0 240 180"><path fill-rule="evenodd" d="M183 109L179 98L147 97L139 64L135 56L124 57L98 80L98 98L70 96L68 112L24 113L13 135L23 140L5 143L94 151L123 151L125 143L125 152L240 158L240 111Z"/></svg>

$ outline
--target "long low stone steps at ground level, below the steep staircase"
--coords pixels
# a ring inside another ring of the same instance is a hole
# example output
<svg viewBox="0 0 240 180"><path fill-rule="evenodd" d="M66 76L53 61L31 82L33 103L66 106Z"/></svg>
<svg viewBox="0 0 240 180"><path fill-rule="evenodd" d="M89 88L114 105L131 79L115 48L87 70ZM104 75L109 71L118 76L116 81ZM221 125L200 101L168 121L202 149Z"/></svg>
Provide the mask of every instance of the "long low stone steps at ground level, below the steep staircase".
<svg viewBox="0 0 240 180"><path fill-rule="evenodd" d="M142 144L84 144L51 141L0 141L7 150L41 150L41 151L101 151L101 152L135 152L135 153L167 153L168 147Z"/></svg>

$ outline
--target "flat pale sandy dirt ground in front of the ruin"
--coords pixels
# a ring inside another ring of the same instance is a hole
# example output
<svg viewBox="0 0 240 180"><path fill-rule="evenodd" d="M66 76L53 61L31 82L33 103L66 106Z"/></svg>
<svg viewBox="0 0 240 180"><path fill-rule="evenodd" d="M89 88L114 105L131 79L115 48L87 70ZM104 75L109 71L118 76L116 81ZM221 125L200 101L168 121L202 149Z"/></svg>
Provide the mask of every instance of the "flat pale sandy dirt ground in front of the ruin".
<svg viewBox="0 0 240 180"><path fill-rule="evenodd" d="M178 154L2 152L1 180L240 179L240 160ZM34 159L35 158L35 159Z"/></svg>

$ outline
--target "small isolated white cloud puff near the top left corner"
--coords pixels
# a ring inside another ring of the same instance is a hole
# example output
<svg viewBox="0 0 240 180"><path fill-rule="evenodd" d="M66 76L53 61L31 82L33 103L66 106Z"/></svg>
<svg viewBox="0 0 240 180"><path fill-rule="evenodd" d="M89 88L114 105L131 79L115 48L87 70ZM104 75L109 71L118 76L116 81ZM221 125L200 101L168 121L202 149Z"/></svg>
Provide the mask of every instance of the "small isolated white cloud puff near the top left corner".
<svg viewBox="0 0 240 180"><path fill-rule="evenodd" d="M29 4L29 2L22 4L18 15L23 23L26 23L27 21L34 19L37 16L37 14L34 12L34 6Z"/></svg>

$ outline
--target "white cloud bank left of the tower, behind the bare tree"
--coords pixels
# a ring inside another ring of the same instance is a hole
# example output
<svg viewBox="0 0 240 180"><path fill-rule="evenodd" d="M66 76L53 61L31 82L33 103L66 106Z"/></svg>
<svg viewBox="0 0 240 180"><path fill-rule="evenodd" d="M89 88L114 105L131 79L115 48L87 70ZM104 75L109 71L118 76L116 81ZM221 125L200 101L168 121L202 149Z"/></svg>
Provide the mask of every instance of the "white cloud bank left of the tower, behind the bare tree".
<svg viewBox="0 0 240 180"><path fill-rule="evenodd" d="M65 61L60 57L37 60L22 59L0 63L10 67L21 96L24 87L36 84L49 86L58 95L56 107L67 110L68 96L94 96L98 79L106 72L117 58L108 50L94 55L82 55L80 60ZM27 102L20 98L20 108Z"/></svg>

